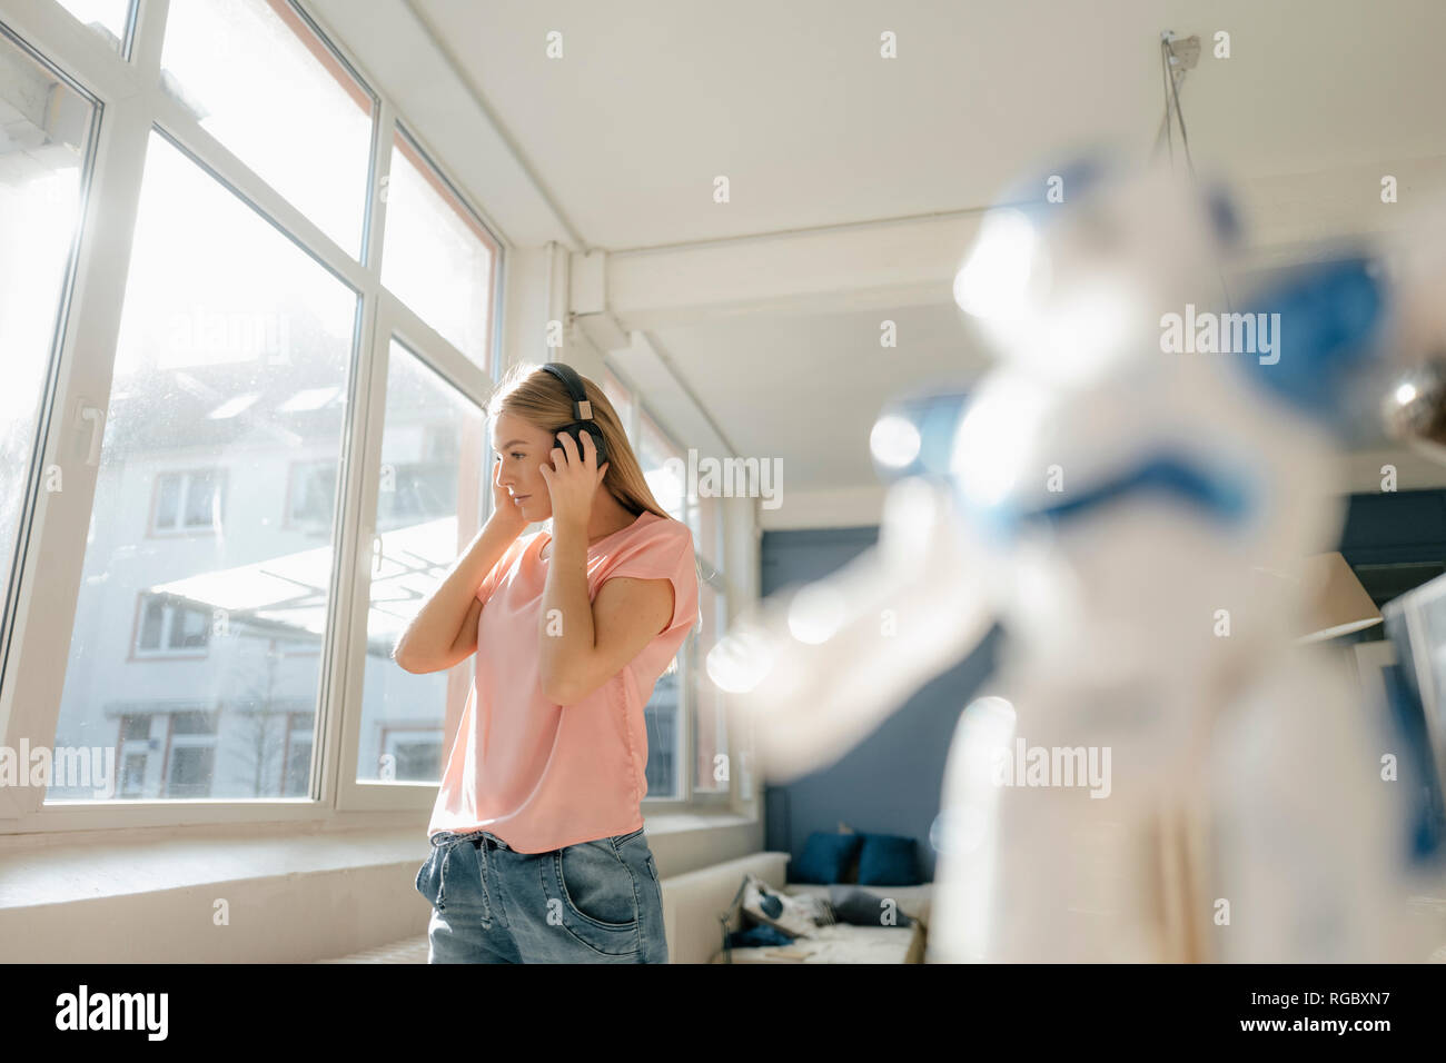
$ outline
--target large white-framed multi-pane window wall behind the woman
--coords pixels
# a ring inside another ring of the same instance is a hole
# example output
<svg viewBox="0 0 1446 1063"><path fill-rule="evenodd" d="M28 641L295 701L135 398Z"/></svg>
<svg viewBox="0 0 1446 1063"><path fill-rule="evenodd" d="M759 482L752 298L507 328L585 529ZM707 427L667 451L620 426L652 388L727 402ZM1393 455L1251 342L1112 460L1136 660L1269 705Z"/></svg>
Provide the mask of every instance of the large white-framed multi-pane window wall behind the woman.
<svg viewBox="0 0 1446 1063"><path fill-rule="evenodd" d="M0 10L0 746L113 775L0 833L422 814L474 658L390 654L490 506L505 249L305 0L46 3ZM724 791L717 513L607 386L707 583L649 798Z"/></svg>

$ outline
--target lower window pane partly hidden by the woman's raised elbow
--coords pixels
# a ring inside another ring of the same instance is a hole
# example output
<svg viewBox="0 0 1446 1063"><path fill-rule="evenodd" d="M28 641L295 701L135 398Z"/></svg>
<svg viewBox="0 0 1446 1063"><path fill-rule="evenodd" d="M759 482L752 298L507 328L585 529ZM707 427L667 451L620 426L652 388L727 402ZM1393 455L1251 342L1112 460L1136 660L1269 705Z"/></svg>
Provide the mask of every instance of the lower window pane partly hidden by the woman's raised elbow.
<svg viewBox="0 0 1446 1063"><path fill-rule="evenodd" d="M392 648L482 528L487 441L477 405L399 343L386 372L372 609L357 781L437 782L442 742L455 732L473 662L412 675Z"/></svg>

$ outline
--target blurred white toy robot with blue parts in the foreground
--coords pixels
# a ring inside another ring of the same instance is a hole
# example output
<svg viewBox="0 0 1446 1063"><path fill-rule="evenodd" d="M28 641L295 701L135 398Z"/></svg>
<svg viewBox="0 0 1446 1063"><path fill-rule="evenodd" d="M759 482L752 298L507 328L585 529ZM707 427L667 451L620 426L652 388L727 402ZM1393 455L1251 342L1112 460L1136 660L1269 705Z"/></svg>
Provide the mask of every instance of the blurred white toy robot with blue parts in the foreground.
<svg viewBox="0 0 1446 1063"><path fill-rule="evenodd" d="M1223 192L1089 162L1053 187L988 213L956 279L998 366L875 424L878 547L709 674L788 780L1002 625L949 751L931 962L1424 959L1390 732L1299 644L1300 561L1335 550L1362 380L1437 432L1446 270L1338 249L1226 317Z"/></svg>

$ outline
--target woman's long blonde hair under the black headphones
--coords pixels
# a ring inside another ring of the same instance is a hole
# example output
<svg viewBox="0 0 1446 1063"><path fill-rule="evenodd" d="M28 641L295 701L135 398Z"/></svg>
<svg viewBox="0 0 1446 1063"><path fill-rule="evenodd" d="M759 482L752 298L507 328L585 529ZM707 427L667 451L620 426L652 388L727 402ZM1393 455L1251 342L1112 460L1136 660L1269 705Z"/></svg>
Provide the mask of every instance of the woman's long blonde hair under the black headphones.
<svg viewBox="0 0 1446 1063"><path fill-rule="evenodd" d="M638 461L632 444L628 443L622 418L617 417L613 404L607 401L607 395L581 373L577 376L583 382L587 401L593 404L593 421L602 428L603 445L607 448L607 471L603 474L603 486L629 513L639 515L646 511L669 521L677 519L658 505L652 489L648 487L642 464ZM541 366L528 362L519 362L508 369L502 375L502 380L497 382L497 389L487 399L487 418L496 418L499 414L519 417L534 428L541 428L552 435L561 431L562 425L574 421L573 398L562 382Z"/></svg>

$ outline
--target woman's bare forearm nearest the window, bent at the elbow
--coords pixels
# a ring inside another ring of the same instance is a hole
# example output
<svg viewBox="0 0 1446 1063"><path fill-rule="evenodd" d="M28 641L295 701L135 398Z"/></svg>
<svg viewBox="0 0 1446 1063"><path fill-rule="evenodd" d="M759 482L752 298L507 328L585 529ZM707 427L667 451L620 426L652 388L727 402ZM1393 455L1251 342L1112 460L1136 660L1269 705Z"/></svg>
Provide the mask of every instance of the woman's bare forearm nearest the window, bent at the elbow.
<svg viewBox="0 0 1446 1063"><path fill-rule="evenodd" d="M477 648L477 586L526 528L506 511L487 524L396 641L392 659L416 675L451 668Z"/></svg>

